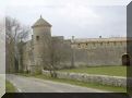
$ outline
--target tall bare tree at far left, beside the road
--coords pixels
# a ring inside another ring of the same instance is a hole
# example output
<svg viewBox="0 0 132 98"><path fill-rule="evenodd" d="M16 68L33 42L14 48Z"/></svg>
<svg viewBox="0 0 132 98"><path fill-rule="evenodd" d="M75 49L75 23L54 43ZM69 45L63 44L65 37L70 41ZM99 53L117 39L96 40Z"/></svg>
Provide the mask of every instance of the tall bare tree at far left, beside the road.
<svg viewBox="0 0 132 98"><path fill-rule="evenodd" d="M22 26L21 23L9 16L5 17L5 58L7 71L16 72L19 70L19 59L21 58L20 42L28 35L28 28Z"/></svg>

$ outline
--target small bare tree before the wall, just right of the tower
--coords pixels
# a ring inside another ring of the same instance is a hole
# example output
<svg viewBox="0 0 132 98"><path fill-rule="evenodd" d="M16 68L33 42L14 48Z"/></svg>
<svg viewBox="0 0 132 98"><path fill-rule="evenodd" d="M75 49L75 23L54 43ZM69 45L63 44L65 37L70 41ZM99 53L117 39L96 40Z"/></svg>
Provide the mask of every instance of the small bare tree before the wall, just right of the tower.
<svg viewBox="0 0 132 98"><path fill-rule="evenodd" d="M49 65L50 74L57 77L57 70L61 69L62 63L70 60L71 47L62 40L53 39L51 47L51 64Z"/></svg>

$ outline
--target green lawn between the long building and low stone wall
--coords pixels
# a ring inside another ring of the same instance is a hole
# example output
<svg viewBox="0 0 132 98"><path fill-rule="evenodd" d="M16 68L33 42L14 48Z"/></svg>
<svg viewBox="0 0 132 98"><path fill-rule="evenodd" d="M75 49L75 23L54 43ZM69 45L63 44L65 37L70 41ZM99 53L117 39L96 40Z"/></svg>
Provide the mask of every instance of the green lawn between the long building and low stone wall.
<svg viewBox="0 0 132 98"><path fill-rule="evenodd" d="M127 76L127 66L94 66L60 70L61 72L87 73L110 76Z"/></svg>

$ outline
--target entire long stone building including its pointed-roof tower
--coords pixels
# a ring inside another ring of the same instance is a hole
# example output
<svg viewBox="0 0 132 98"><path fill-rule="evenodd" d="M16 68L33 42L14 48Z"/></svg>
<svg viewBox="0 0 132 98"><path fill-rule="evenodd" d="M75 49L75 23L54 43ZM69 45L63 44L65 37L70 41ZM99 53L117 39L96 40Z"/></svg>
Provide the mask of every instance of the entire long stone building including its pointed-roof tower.
<svg viewBox="0 0 132 98"><path fill-rule="evenodd" d="M51 36L51 25L40 17L33 26L32 40L23 46L23 70L40 71L98 65L130 65L127 44L132 38L86 38Z"/></svg>

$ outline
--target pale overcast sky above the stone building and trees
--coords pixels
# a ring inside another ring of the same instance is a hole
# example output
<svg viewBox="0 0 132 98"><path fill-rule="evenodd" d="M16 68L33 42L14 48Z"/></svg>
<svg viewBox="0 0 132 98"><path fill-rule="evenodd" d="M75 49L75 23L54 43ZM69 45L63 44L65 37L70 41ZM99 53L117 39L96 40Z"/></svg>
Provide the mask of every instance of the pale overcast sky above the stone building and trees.
<svg viewBox="0 0 132 98"><path fill-rule="evenodd" d="M99 1L99 2L98 2ZM40 16L52 36L97 38L127 35L127 4L131 0L7 0L5 14L32 26Z"/></svg>

